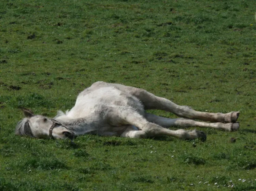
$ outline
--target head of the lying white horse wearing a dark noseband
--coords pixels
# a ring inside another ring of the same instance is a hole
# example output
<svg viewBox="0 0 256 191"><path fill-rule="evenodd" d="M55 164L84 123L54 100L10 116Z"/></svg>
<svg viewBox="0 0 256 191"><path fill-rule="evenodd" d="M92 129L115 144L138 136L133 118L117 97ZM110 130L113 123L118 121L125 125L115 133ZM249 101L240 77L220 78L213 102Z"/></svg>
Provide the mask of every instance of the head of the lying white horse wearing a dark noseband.
<svg viewBox="0 0 256 191"><path fill-rule="evenodd" d="M25 117L20 120L16 126L16 135L25 135L35 138L55 138L55 139L73 139L75 133L59 122L41 115L34 115L26 108L20 108Z"/></svg>

